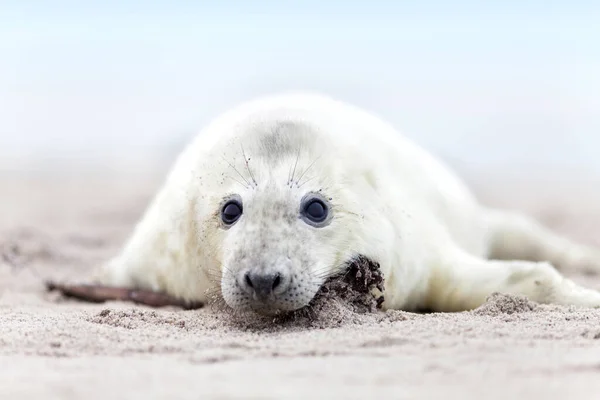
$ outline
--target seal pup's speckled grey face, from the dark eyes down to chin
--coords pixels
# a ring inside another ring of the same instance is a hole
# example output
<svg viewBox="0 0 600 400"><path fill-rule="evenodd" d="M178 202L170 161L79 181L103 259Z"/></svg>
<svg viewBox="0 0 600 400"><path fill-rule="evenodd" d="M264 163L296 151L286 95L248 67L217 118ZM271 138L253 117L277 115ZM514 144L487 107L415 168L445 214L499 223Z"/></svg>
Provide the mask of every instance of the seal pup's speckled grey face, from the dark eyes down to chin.
<svg viewBox="0 0 600 400"><path fill-rule="evenodd" d="M232 308L273 313L305 306L336 261L327 240L335 218L329 198L318 192L298 198L279 189L271 184L253 196L234 194L221 206L231 250L221 291Z"/></svg>

